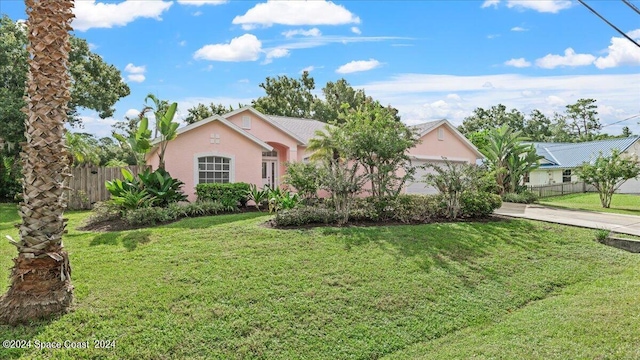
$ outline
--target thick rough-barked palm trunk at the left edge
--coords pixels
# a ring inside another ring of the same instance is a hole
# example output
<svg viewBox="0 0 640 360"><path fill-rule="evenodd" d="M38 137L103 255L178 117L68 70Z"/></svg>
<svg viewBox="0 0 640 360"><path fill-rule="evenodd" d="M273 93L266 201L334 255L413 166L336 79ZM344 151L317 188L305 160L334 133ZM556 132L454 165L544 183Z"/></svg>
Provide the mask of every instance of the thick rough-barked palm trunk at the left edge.
<svg viewBox="0 0 640 360"><path fill-rule="evenodd" d="M66 312L73 299L69 257L62 246L69 176L64 122L70 100L67 73L73 0L25 0L29 29L27 142L22 148L20 240L11 287L0 298L0 322L23 323Z"/></svg>

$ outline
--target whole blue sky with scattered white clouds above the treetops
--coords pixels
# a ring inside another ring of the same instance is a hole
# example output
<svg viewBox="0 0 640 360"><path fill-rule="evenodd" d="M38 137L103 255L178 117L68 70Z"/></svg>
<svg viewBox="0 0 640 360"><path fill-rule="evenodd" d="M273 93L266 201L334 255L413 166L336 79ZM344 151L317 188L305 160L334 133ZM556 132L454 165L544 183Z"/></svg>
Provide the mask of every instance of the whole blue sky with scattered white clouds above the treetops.
<svg viewBox="0 0 640 360"><path fill-rule="evenodd" d="M640 40L640 15L622 1L587 0ZM640 1L632 0L640 7ZM460 124L498 103L562 112L598 100L601 122L640 114L640 48L577 1L91 1L73 26L131 87L112 119L84 111L85 130L110 134L145 96L234 107L263 95L267 76L304 69L318 93L345 78L415 124ZM24 19L23 1L0 12ZM640 133L640 118L605 127Z"/></svg>

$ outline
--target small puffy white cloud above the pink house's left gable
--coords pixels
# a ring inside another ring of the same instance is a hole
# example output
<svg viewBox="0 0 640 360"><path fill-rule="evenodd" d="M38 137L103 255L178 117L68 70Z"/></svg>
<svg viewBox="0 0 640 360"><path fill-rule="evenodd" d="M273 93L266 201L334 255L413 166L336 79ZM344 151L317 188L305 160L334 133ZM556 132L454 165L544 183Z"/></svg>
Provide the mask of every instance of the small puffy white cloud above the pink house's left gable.
<svg viewBox="0 0 640 360"><path fill-rule="evenodd" d="M256 61L262 52L262 42L255 35L244 34L231 39L228 44L205 45L193 58L211 61Z"/></svg>

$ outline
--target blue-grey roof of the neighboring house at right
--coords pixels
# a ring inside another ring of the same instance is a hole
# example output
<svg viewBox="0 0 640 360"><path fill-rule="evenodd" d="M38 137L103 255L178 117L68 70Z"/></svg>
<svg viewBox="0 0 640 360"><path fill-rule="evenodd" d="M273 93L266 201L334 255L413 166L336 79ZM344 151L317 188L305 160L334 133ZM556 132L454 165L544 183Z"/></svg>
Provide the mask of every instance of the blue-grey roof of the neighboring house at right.
<svg viewBox="0 0 640 360"><path fill-rule="evenodd" d="M536 149L536 153L549 163L542 163L540 168L573 168L580 166L584 162L595 160L602 152L602 155L609 156L613 149L620 152L627 150L638 141L638 136L628 138L589 141L583 143L531 143Z"/></svg>

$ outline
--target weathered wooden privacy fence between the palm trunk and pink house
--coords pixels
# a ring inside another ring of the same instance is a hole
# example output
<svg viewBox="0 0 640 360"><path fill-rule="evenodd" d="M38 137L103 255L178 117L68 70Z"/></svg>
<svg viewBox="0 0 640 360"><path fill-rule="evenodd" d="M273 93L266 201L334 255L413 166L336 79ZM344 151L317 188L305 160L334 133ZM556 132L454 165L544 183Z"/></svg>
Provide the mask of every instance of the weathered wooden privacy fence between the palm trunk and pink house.
<svg viewBox="0 0 640 360"><path fill-rule="evenodd" d="M136 176L148 166L131 165L125 167ZM109 191L104 185L113 179L122 180L122 168L119 167L76 167L71 168L69 190L65 191L69 210L91 209L94 203L109 199Z"/></svg>

